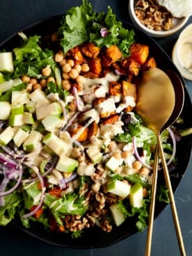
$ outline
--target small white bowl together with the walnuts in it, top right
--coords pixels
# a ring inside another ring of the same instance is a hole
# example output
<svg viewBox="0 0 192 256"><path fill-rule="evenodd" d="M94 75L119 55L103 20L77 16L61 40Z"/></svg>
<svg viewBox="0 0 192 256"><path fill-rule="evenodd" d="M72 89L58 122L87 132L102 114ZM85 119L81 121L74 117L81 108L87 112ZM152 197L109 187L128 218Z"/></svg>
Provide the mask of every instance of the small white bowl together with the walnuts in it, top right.
<svg viewBox="0 0 192 256"><path fill-rule="evenodd" d="M156 0L129 0L131 21L148 35L166 37L182 29L188 17L174 17Z"/></svg>

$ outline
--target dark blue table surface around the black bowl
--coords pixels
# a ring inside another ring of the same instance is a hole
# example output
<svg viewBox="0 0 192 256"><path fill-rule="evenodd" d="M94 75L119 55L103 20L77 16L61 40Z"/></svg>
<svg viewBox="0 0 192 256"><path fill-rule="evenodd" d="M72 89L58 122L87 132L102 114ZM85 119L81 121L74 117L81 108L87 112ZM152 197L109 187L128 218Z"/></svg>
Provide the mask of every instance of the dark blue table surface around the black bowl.
<svg viewBox="0 0 192 256"><path fill-rule="evenodd" d="M128 0L129 1L129 0ZM118 18L130 22L127 9L128 1L125 0L92 0L93 8L106 11L107 6L111 6ZM52 15L63 14L72 6L79 6L81 0L1 0L0 1L0 42L8 38L13 33L37 22L39 19ZM192 23L192 17L189 19ZM179 31L180 33L180 31ZM158 39L159 45L171 55L179 33L168 38ZM192 81L185 80L187 90L192 96ZM192 114L192 113L191 113ZM175 191L175 202L182 228L186 254L192 255L192 161ZM97 239L97 237L95 237ZM25 255L25 256L116 256L130 255L141 256L145 253L146 230L115 243L113 246L91 250L73 250L49 245L35 239L29 234L17 230L12 225L0 227L0 255ZM179 249L173 225L170 207L160 214L154 221L154 231L152 238L152 255L155 256L177 256Z"/></svg>

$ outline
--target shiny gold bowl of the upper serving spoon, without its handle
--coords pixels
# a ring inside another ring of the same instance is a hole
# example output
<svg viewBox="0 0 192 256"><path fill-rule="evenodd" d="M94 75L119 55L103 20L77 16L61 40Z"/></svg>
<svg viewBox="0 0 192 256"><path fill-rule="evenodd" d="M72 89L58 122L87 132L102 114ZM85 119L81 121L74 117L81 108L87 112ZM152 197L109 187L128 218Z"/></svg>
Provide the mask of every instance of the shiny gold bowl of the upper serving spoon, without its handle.
<svg viewBox="0 0 192 256"><path fill-rule="evenodd" d="M158 136L173 113L175 107L175 90L168 75L157 67L143 72L138 83L136 112L141 116L145 126Z"/></svg>

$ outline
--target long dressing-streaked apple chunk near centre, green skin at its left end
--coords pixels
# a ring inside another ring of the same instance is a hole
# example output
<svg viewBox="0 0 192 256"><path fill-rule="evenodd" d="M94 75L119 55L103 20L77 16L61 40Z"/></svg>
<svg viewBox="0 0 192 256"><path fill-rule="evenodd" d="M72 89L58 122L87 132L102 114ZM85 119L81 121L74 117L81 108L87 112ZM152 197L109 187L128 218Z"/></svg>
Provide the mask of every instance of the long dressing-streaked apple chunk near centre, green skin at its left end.
<svg viewBox="0 0 192 256"><path fill-rule="evenodd" d="M55 154L58 154L58 156L66 154L72 149L72 143L63 141L53 132L46 134L42 142L45 143L45 145L47 145Z"/></svg>

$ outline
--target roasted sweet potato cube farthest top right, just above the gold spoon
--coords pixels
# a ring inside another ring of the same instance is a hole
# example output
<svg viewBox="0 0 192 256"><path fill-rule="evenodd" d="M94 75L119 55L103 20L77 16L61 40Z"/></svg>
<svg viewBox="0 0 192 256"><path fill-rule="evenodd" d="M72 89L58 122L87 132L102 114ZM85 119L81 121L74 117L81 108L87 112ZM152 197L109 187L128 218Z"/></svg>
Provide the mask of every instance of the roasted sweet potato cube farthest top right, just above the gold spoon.
<svg viewBox="0 0 192 256"><path fill-rule="evenodd" d="M134 43L130 48L131 56L137 63L143 65L150 53L148 45L141 45L139 43Z"/></svg>

